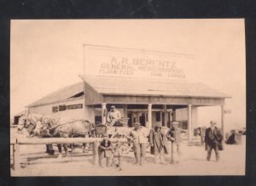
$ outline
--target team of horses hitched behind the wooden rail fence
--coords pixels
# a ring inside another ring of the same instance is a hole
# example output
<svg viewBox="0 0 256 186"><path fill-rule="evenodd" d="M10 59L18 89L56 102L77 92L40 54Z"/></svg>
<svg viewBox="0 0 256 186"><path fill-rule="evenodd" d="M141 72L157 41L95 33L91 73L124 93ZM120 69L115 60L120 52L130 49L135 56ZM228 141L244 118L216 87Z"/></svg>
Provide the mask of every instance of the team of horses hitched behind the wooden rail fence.
<svg viewBox="0 0 256 186"><path fill-rule="evenodd" d="M70 118L61 120L61 118L54 118L50 116L26 114L24 116L20 116L17 128L18 132L24 133L24 131L26 131L27 136L38 136L42 138L68 138L74 136L85 137L85 135L90 134L93 130L93 124L91 124L90 121L78 121ZM57 144L57 146L61 153L61 144ZM67 144L63 144L63 148L67 155ZM46 153L54 155L55 151L52 144L46 144Z"/></svg>

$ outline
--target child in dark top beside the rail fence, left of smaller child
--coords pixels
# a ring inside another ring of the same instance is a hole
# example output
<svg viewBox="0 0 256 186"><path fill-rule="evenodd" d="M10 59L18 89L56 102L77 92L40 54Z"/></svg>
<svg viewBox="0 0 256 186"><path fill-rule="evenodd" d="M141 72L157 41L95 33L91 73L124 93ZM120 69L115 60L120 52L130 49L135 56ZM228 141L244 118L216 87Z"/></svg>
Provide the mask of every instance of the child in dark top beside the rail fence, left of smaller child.
<svg viewBox="0 0 256 186"><path fill-rule="evenodd" d="M109 141L108 134L105 134L103 137L102 143L99 145L98 154L99 154L99 166L102 166L102 159L107 158L107 166L110 166L110 158L113 156L113 146Z"/></svg>

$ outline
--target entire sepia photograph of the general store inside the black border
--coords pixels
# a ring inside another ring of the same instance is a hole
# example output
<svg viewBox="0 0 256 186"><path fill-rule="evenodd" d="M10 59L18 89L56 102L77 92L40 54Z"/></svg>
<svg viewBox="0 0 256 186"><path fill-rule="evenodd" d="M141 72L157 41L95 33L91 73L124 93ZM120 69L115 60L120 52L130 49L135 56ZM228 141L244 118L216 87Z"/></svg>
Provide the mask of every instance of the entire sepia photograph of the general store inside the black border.
<svg viewBox="0 0 256 186"><path fill-rule="evenodd" d="M11 20L10 174L244 176L244 19Z"/></svg>

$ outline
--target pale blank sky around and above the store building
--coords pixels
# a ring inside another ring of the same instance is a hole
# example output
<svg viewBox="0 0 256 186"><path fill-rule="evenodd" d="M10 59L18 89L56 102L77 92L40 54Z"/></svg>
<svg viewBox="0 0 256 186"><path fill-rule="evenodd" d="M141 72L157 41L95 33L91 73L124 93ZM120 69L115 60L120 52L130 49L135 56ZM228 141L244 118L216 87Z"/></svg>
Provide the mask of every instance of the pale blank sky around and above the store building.
<svg viewBox="0 0 256 186"><path fill-rule="evenodd" d="M83 43L192 54L187 78L226 99L227 128L246 123L246 58L243 19L11 20L10 114L55 90L81 82ZM211 113L211 115L209 115ZM218 107L201 107L198 122L220 121Z"/></svg>

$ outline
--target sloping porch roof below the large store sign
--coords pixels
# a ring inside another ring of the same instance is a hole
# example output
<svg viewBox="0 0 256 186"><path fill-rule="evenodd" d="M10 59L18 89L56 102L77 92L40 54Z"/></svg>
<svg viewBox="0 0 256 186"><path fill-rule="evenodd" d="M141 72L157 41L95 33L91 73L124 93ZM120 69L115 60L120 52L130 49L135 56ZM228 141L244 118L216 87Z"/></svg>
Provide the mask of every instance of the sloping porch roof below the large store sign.
<svg viewBox="0 0 256 186"><path fill-rule="evenodd" d="M80 76L96 93L104 95L231 98L200 82L112 76ZM85 90L86 92L86 90Z"/></svg>

